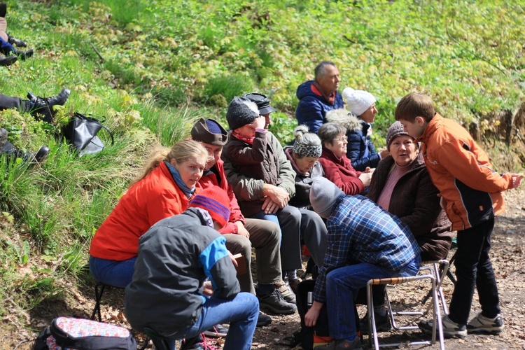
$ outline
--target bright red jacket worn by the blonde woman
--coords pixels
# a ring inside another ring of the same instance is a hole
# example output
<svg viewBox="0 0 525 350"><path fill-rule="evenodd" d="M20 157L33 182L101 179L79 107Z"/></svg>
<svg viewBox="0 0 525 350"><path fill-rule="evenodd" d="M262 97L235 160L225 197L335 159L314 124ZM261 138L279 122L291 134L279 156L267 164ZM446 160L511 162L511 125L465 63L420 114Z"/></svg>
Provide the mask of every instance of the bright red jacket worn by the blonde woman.
<svg viewBox="0 0 525 350"><path fill-rule="evenodd" d="M176 185L165 162L160 162L151 174L135 183L120 198L95 232L90 255L118 261L137 256L139 238L163 218L188 209L188 202L188 197Z"/></svg>

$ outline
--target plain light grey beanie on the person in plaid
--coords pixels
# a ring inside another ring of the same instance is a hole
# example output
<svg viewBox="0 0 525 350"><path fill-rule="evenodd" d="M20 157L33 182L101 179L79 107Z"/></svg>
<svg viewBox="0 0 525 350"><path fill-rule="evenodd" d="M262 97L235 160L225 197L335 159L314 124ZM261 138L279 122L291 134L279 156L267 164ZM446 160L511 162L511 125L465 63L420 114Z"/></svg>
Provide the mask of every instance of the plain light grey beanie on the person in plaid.
<svg viewBox="0 0 525 350"><path fill-rule="evenodd" d="M342 195L344 192L323 176L317 176L311 183L311 207L321 218L329 218L332 215L335 202Z"/></svg>

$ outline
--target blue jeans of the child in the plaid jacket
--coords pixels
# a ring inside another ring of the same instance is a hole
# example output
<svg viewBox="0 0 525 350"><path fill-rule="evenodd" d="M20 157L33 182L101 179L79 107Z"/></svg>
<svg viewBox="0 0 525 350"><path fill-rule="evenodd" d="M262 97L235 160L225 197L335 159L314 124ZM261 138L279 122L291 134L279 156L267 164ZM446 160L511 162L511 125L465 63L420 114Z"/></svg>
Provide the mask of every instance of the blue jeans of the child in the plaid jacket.
<svg viewBox="0 0 525 350"><path fill-rule="evenodd" d="M326 308L328 328L333 339L346 339L357 334L354 300L360 288L370 279L415 276L421 258L418 256L398 273L367 262L333 269L326 275Z"/></svg>

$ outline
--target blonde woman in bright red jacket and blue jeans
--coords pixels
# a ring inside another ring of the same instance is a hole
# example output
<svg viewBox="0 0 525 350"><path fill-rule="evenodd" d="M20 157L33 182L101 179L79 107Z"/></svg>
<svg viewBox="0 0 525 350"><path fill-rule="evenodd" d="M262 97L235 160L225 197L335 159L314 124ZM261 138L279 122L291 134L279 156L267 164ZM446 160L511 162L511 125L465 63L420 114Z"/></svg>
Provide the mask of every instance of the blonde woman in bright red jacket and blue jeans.
<svg viewBox="0 0 525 350"><path fill-rule="evenodd" d="M171 150L153 151L144 173L94 234L90 247L94 279L120 288L132 281L139 237L163 218L188 209L207 158L206 149L191 140L174 144Z"/></svg>

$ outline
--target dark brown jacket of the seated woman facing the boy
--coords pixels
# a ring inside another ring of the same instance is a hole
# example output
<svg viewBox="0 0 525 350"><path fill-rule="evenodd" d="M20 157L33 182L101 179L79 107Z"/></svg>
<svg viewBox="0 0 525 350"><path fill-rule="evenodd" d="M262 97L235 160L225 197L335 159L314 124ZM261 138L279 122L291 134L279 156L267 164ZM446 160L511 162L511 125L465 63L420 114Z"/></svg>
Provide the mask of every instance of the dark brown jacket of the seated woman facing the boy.
<svg viewBox="0 0 525 350"><path fill-rule="evenodd" d="M377 165L368 187L367 197L370 200L377 202L379 199L393 165L391 155ZM440 207L438 193L428 176L423 155L419 153L412 162L412 168L395 184L388 204L388 211L412 230L421 253L426 253L423 259L447 258L452 242L451 223Z"/></svg>

